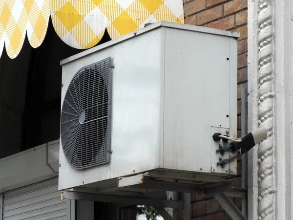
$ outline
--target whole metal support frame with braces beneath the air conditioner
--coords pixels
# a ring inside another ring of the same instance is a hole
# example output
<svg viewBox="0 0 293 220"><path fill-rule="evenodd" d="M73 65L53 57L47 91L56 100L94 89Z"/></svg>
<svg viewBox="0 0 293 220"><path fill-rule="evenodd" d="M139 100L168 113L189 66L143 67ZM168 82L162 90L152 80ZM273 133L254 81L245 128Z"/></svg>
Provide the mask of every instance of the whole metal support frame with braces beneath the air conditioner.
<svg viewBox="0 0 293 220"><path fill-rule="evenodd" d="M190 193L205 195L214 194L215 198L233 220L247 220L241 211L224 193L227 192L227 194L231 197L247 198L246 190L242 188L232 188L230 183L227 181L213 183L207 186L198 186L192 183L158 181L149 177L149 174L120 177L117 179L118 189L113 188L112 191L110 190L107 192L89 192L86 188L76 189L78 191L75 189L62 191L61 200L76 199L100 201L118 203L126 206L149 205L153 206L165 220L174 220L177 217L173 218L166 211L166 209L164 209L164 207L184 209L184 220L190 220ZM141 193L140 196L117 195L117 191L127 193L132 190L137 191L137 189L139 189L140 192L145 193ZM167 194L164 196L163 194L160 194L160 191L181 192L183 194L181 194L181 200L169 200L167 199ZM156 194L156 196L154 196L154 194Z"/></svg>

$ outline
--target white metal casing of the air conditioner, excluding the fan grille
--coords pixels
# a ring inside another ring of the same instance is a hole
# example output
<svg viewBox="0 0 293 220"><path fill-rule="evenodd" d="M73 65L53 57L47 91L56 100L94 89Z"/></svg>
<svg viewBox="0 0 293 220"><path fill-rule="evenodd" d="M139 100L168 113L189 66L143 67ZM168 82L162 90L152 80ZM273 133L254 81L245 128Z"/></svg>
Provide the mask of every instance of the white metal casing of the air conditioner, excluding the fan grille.
<svg viewBox="0 0 293 220"><path fill-rule="evenodd" d="M236 137L237 37L157 22L63 60L62 104L78 70L111 57L113 153L108 164L77 170L61 146L59 189L155 169L236 174L236 161L216 165L212 134Z"/></svg>

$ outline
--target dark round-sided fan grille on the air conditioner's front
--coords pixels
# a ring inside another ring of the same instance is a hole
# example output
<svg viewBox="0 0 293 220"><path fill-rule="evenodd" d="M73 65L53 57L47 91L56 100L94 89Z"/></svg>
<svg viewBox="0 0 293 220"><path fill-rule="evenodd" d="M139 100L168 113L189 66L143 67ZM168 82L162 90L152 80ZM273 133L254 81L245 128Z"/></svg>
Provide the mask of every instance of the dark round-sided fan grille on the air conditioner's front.
<svg viewBox="0 0 293 220"><path fill-rule="evenodd" d="M109 160L110 58L75 74L61 112L61 142L65 157L75 168Z"/></svg>

